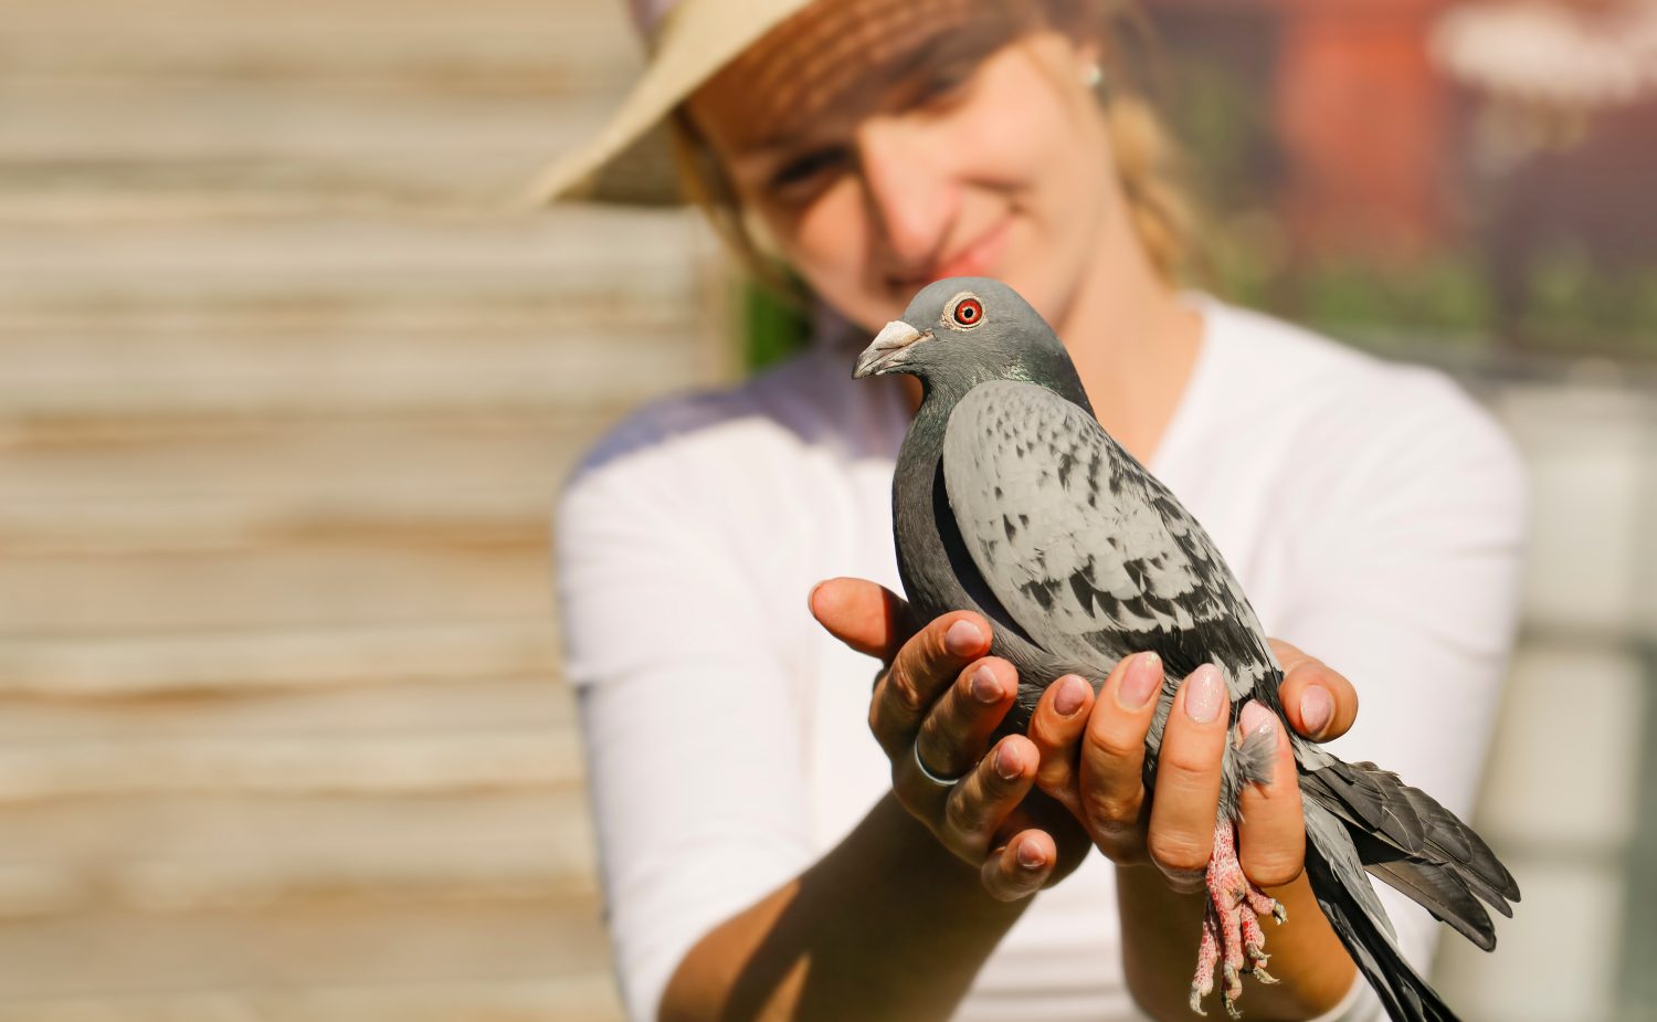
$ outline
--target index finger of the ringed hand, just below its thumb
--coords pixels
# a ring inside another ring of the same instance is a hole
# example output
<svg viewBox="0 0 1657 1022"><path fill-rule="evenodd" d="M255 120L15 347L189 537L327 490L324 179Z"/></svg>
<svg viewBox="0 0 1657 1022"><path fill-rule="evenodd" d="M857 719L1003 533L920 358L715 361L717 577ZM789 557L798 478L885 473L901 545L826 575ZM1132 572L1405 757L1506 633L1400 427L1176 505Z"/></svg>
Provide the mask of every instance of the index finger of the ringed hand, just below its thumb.
<svg viewBox="0 0 1657 1022"><path fill-rule="evenodd" d="M943 615L903 643L891 668L875 682L868 706L868 727L891 762L913 757L910 745L931 704L966 664L986 653L989 626L968 611Z"/></svg>

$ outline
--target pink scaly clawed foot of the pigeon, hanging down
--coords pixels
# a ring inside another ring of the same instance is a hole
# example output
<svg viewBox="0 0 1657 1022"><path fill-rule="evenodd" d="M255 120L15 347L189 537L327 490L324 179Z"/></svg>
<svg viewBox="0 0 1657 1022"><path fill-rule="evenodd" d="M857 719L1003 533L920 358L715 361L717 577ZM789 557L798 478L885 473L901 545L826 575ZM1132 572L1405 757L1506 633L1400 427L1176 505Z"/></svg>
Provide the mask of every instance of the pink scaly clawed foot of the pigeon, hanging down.
<svg viewBox="0 0 1657 1022"><path fill-rule="evenodd" d="M1266 972L1266 933L1258 916L1278 923L1287 919L1283 904L1269 898L1243 875L1236 836L1229 820L1215 825L1215 853L1208 860L1208 911L1203 913L1203 942L1196 951L1196 976L1191 979L1191 1010L1206 1015L1203 997L1215 989L1215 966L1225 979L1220 992L1226 1014L1241 1019L1236 999L1243 995L1243 974L1261 982L1278 982Z"/></svg>

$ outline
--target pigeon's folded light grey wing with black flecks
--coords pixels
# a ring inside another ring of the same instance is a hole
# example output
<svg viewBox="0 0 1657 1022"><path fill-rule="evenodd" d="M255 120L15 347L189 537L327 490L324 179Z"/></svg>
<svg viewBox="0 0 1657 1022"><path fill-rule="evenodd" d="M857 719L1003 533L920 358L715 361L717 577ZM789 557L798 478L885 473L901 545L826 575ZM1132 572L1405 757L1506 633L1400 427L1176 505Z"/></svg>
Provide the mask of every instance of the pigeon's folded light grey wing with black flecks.
<svg viewBox="0 0 1657 1022"><path fill-rule="evenodd" d="M1176 674L1211 661L1233 699L1279 676L1213 540L1077 404L1031 383L973 388L943 475L973 563L1049 653L1104 671L1140 649Z"/></svg>

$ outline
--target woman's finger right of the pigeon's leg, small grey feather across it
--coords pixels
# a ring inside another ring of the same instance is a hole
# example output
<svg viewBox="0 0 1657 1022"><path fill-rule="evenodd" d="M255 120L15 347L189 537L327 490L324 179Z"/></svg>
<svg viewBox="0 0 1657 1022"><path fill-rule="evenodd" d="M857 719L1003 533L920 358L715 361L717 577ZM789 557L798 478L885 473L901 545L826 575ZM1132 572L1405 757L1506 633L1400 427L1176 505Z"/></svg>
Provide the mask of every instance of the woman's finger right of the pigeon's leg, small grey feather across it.
<svg viewBox="0 0 1657 1022"><path fill-rule="evenodd" d="M1301 875L1306 863L1306 820L1301 815L1301 779L1294 770L1289 732L1278 714L1249 699L1236 730L1238 747L1269 755L1266 783L1244 783L1238 793L1238 856L1243 873L1263 888L1276 888Z"/></svg>

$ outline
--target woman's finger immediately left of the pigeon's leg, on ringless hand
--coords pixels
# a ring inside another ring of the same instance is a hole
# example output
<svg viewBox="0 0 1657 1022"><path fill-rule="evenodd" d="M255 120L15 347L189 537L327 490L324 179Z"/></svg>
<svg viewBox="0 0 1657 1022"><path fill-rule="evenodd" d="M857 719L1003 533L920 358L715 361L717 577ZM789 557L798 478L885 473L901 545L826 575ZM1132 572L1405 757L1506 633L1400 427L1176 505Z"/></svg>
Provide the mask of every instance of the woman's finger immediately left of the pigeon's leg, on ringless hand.
<svg viewBox="0 0 1657 1022"><path fill-rule="evenodd" d="M1220 759L1231 734L1226 709L1225 677L1203 664L1180 686L1162 732L1145 850L1181 889L1201 885L1215 850Z"/></svg>

